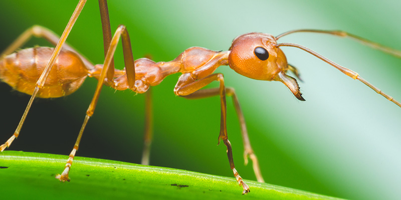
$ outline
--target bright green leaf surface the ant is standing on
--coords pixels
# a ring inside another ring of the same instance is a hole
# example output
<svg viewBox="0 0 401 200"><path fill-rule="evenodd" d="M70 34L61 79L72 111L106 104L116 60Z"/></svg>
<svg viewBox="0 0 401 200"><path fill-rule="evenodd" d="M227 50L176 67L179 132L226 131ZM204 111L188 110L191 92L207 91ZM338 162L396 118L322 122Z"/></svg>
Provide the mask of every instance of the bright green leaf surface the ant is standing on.
<svg viewBox="0 0 401 200"><path fill-rule="evenodd" d="M2 199L337 199L246 180L241 195L235 178L121 161L75 157L71 182L54 176L68 156L4 151L0 153Z"/></svg>

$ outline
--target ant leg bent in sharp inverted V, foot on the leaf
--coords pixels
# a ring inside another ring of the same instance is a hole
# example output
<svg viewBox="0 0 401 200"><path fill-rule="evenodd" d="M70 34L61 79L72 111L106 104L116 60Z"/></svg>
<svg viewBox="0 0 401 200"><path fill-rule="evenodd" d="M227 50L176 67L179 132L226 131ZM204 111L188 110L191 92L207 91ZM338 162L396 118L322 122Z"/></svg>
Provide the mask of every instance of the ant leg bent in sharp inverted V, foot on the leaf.
<svg viewBox="0 0 401 200"><path fill-rule="evenodd" d="M89 118L93 115L93 112L95 110L97 101L99 99L99 95L100 95L100 91L102 89L102 85L104 82L104 79L106 77L106 73L108 68L110 67L110 63L111 63L111 59L114 55L114 52L117 48L117 43L119 41L120 36L122 37L122 43L123 43L123 54L124 54L124 60L125 60L125 68L126 71L132 71L135 70L134 69L134 61L133 61L133 57L132 57L132 49L131 49L131 44L130 44L130 39L129 39L129 35L128 35L128 31L126 30L124 25L119 25L116 32L114 33L113 38L111 39L110 42L110 47L107 50L107 54L104 60L104 64L103 64L103 68L102 71L100 72L100 76L98 79L98 83L96 86L96 90L95 90L95 94L93 95L92 101L89 104L88 109L86 110L86 116L84 119L84 122L82 123L81 129L79 131L77 140L75 142L74 148L72 149L70 156L67 160L66 166L64 168L64 171L61 174L57 174L56 178L59 179L60 181L70 181L70 178L68 177L68 173L70 171L71 168L71 164L72 161L74 159L75 153L78 150L79 147L79 142L81 141L81 137L82 137L82 133L84 132L85 126L89 120ZM130 55L130 56L128 56ZM131 59L131 61L129 60ZM132 65L131 65L132 64ZM131 74L133 76L133 79L135 80L135 72L134 74ZM130 78L132 78L132 76L128 77L127 74L127 79L128 79L128 83L129 85L133 85L132 81L130 81Z"/></svg>

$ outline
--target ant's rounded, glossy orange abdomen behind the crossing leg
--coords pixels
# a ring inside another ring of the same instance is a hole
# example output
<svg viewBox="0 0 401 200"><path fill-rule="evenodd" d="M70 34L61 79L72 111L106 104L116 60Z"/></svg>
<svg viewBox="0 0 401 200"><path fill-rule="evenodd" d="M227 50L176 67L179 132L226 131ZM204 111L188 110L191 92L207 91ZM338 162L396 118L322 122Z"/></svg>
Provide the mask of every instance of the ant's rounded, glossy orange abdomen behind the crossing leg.
<svg viewBox="0 0 401 200"><path fill-rule="evenodd" d="M53 51L50 47L34 47L5 56L0 60L0 79L14 89L32 95ZM61 50L38 96L68 95L81 86L87 74L88 70L76 53Z"/></svg>

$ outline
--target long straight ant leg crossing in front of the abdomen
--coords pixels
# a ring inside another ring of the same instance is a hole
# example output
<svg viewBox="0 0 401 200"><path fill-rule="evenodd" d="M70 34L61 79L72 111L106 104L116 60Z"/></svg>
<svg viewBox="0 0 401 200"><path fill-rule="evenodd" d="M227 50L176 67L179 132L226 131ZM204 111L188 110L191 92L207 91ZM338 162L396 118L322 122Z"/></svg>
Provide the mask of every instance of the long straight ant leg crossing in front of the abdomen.
<svg viewBox="0 0 401 200"><path fill-rule="evenodd" d="M36 82L36 87L34 89L34 92L32 93L31 99L29 100L28 105L25 108L24 114L22 115L21 120L18 123L16 130L14 131L13 136L11 136L6 141L6 143L0 145L0 151L3 151L4 149L6 149L6 147L9 147L11 145L11 143L14 141L14 139L17 138L18 135L20 134L22 125L24 124L24 121L25 121L25 118L27 117L28 111L31 108L32 102L34 101L39 89L42 88L43 85L45 84L46 78L49 75L50 70L52 69L52 66L56 61L57 56L60 53L61 47L65 43L68 34L70 33L75 21L77 20L79 14L81 13L81 11L85 5L85 2L86 2L86 0L80 0L77 7L75 8L75 10L70 18L70 21L68 22L66 28L64 29L64 32L61 35L61 38L60 38L59 42L57 43L56 48L53 51L53 54L49 60L49 63L47 64L45 70L42 72L41 76L39 77L38 81Z"/></svg>

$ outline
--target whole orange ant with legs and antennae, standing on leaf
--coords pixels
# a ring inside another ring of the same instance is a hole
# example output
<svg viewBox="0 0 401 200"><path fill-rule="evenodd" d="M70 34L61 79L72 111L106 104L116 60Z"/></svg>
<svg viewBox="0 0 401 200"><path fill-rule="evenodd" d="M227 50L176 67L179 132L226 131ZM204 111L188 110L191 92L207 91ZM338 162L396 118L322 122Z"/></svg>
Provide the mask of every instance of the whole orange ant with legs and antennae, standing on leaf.
<svg viewBox="0 0 401 200"><path fill-rule="evenodd" d="M230 167L233 170L238 183L244 189L243 194L248 193L250 189L234 166L232 148L230 141L228 140L226 127L226 95L233 97L234 106L238 113L244 140L245 160L247 160L247 157L250 157L253 161L254 171L258 181L264 182L264 179L260 172L258 159L250 144L244 116L237 95L233 88L225 87L223 74L214 73L217 67L221 65L229 65L236 72L253 79L281 81L299 100L303 101L305 99L302 97L296 79L286 74L286 72L290 70L299 78L298 70L296 67L287 63L285 54L280 48L281 46L297 47L322 59L351 78L360 80L380 95L401 107L401 104L398 101L361 78L356 72L338 65L302 45L294 43L277 43L277 40L280 37L290 33L326 33L341 37L350 37L367 44L370 47L401 57L400 51L382 46L344 31L301 29L288 31L278 36L252 32L235 38L231 47L227 51L213 51L202 47L190 47L184 50L175 59L168 62L154 62L148 58L139 58L134 60L127 29L124 25L120 25L113 37L111 36L107 3L106 0L99 0L105 41L105 60L103 64L93 65L73 47L64 44L76 19L83 9L85 2L86 0L80 0L60 38L55 33L44 27L33 26L22 33L19 38L17 38L16 41L1 54L2 59L0 60L0 78L2 81L8 83L20 92L32 95L16 131L6 141L6 143L0 146L1 151L6 147L9 147L14 139L19 136L21 127L36 96L48 98L69 95L81 86L87 76L95 77L99 80L95 94L86 112L81 130L79 131L77 141L67 160L65 169L61 174L56 175L56 178L60 179L60 181L70 180L68 174L73 158L78 150L79 142L85 126L95 110L103 84L117 90L131 89L137 93L145 93L150 86L159 84L167 75L181 72L182 75L179 77L178 82L174 87L174 93L176 95L190 99L219 95L221 102L221 129L219 142L223 140L224 144L227 146ZM56 47L34 47L12 53L22 46L32 35L44 37L51 43L56 44ZM120 37L122 38L125 61L125 68L123 70L115 69L112 60ZM34 59L32 59L33 57ZM202 89L204 86L215 80L220 82L220 87ZM147 95L147 97L149 96ZM151 112L150 109L150 107L147 107L146 113L149 114ZM147 118L146 120L150 121L150 118ZM148 122L147 130L149 130L149 124L150 122ZM148 163L150 143L151 131L145 131L145 147L142 156L143 164Z"/></svg>

